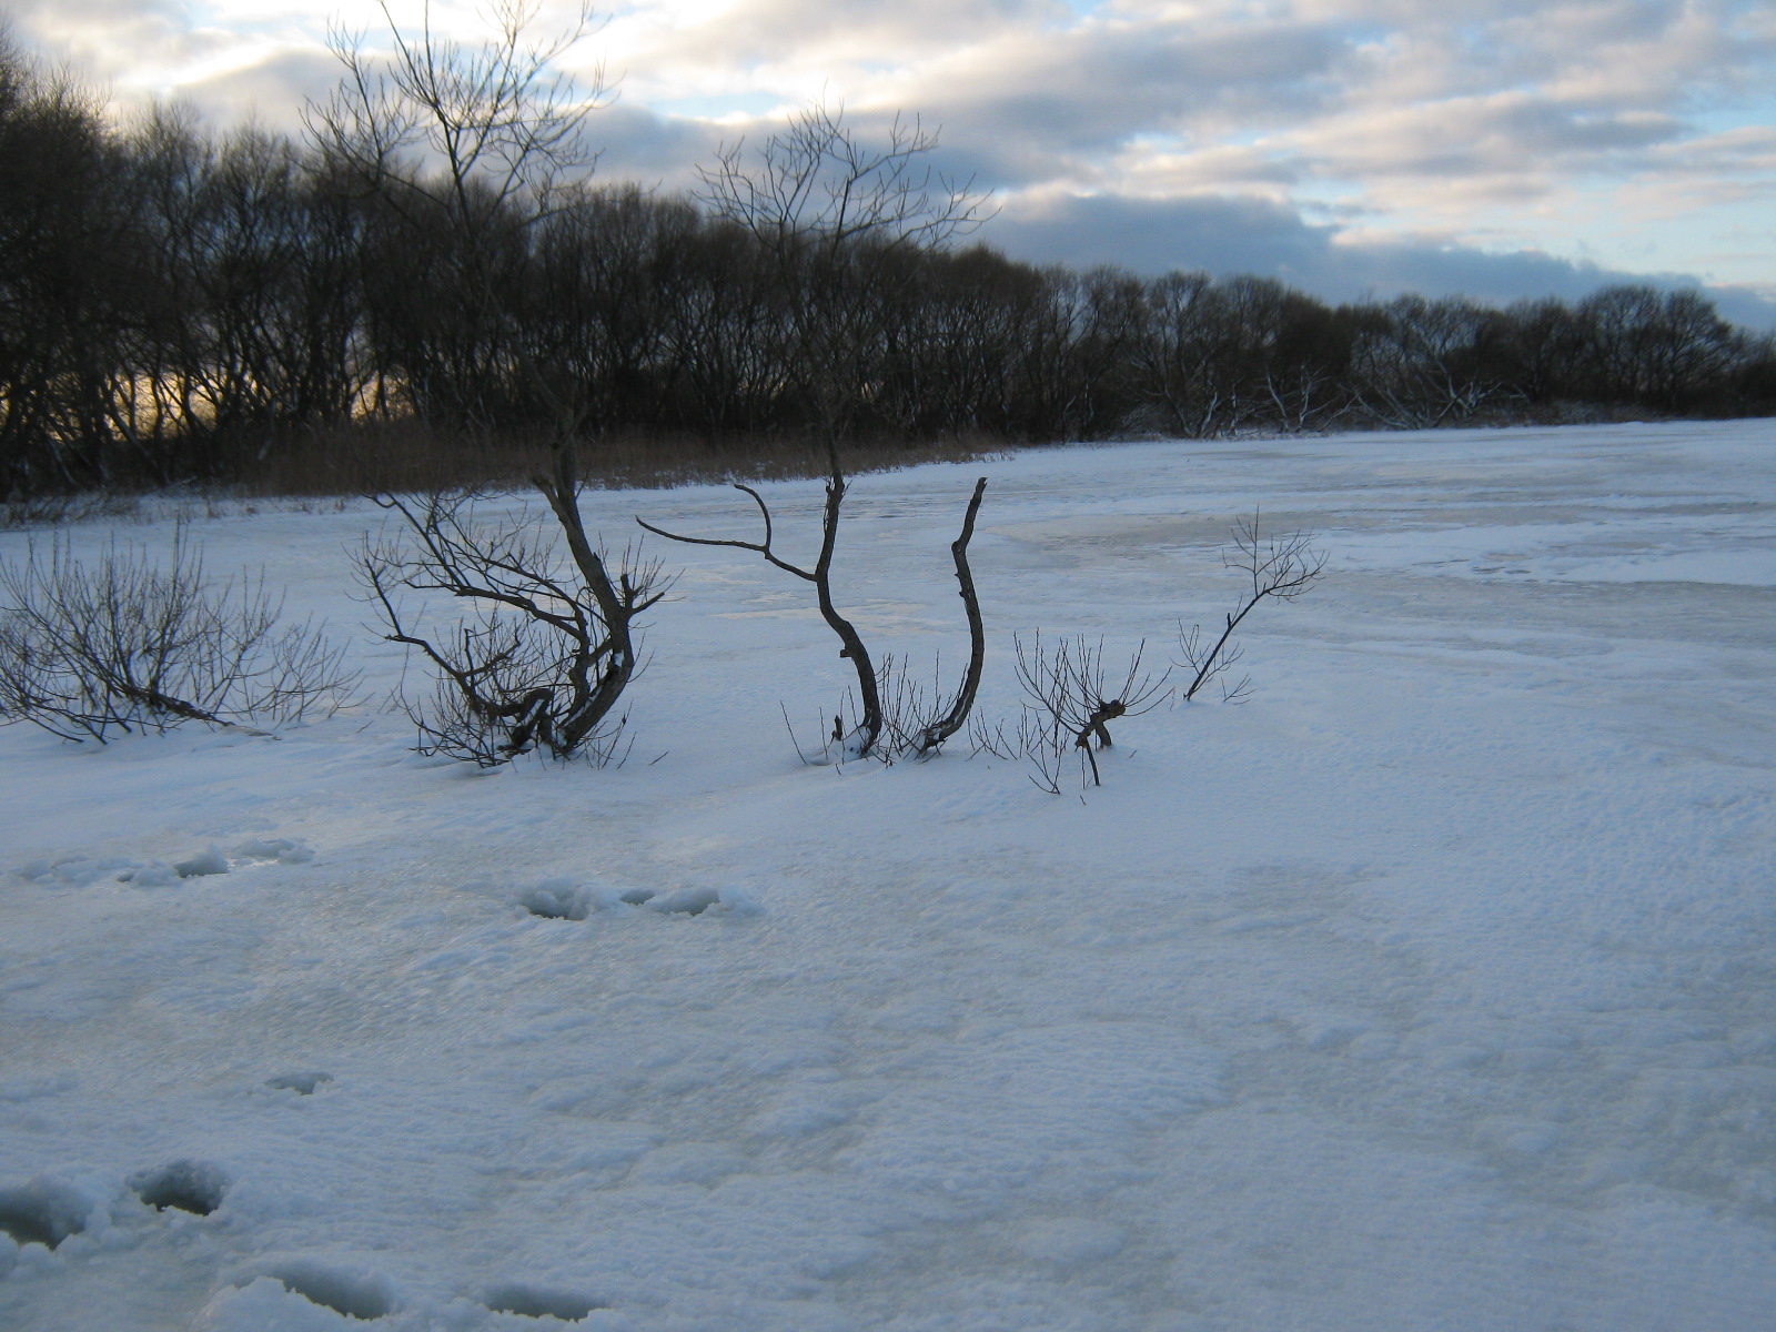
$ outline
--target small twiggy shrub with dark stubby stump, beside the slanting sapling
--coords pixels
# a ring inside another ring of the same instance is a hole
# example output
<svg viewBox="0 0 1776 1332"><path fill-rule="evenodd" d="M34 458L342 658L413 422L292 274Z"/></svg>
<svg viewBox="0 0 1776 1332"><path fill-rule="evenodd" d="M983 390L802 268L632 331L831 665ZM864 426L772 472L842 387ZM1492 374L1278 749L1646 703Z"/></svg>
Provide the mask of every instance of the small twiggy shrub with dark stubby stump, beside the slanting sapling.
<svg viewBox="0 0 1776 1332"><path fill-rule="evenodd" d="M1048 646L1037 630L1028 643L1021 636L1012 643L1018 654L1018 684L1025 693L1023 718L1016 735L1003 728L989 733L977 726L977 748L1000 757L1023 757L1035 769L1030 780L1053 794L1060 794L1067 760L1078 755L1082 780L1089 773L1092 785L1101 787L1094 742L1098 749L1108 749L1112 721L1137 718L1163 703L1169 671L1156 677L1142 670L1146 641L1135 648L1121 673L1112 671L1105 661L1103 639L1092 643L1085 634L1062 638Z"/></svg>

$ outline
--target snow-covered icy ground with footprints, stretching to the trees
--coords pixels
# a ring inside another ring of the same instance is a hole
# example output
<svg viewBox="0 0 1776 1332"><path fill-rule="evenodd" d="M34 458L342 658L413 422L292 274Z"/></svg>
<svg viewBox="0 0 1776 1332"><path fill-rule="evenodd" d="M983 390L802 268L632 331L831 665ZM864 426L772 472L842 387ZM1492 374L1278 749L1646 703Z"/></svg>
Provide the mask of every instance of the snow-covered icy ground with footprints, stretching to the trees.
<svg viewBox="0 0 1776 1332"><path fill-rule="evenodd" d="M721 549L661 549L622 769L375 705L0 730L0 1328L1776 1325L1776 423L865 476L876 650L961 662L980 472L993 716L1012 630L1176 652L1241 511L1328 572L1249 620L1249 703L1122 721L1083 797L799 764L780 703L813 733L845 664ZM819 485L767 496L812 551ZM586 511L755 535L716 487ZM378 519L192 535L380 698Z"/></svg>

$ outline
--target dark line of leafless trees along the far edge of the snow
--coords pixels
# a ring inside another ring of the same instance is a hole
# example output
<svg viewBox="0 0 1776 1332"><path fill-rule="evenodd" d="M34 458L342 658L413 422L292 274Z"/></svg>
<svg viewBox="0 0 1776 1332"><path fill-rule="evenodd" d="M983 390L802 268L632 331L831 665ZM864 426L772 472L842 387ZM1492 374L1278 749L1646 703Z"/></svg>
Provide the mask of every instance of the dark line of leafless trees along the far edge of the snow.
<svg viewBox="0 0 1776 1332"><path fill-rule="evenodd" d="M586 439L730 444L1776 412L1772 339L1693 291L1334 307L634 186L432 197L258 130L117 126L0 50L0 494L238 481L378 423L497 449L567 398Z"/></svg>

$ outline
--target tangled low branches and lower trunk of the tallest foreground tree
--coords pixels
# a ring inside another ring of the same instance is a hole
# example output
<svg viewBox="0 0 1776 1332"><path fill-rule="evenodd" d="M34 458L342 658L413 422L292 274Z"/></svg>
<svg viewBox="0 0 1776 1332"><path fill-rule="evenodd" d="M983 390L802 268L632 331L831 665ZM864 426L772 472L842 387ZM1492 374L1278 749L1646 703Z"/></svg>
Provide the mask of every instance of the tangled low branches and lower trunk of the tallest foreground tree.
<svg viewBox="0 0 1776 1332"><path fill-rule="evenodd" d="M474 494L375 503L398 522L366 538L357 574L384 638L433 668L428 700L401 698L419 753L481 767L533 749L600 764L616 757L627 721L616 703L645 664L634 622L671 588L662 565L623 547L613 581L602 547L581 551L568 531L563 558L527 513L478 519ZM403 593L442 593L476 613L423 630L423 609L412 611Z"/></svg>

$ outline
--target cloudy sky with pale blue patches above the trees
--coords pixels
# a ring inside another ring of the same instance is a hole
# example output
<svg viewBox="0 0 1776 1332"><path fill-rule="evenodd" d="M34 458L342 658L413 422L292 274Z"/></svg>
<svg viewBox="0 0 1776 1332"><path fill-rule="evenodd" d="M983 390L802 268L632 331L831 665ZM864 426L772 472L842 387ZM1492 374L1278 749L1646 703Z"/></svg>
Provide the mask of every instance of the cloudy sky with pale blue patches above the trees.
<svg viewBox="0 0 1776 1332"><path fill-rule="evenodd" d="M14 37L130 112L295 130L375 4L11 0ZM419 0L391 0L416 27ZM540 0L538 32L572 21ZM433 28L487 32L472 4ZM563 59L600 174L682 188L813 101L895 112L1034 261L1280 277L1334 300L1703 284L1776 327L1771 0L641 0Z"/></svg>

